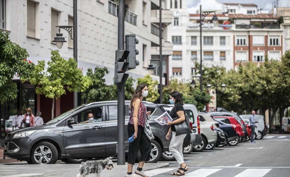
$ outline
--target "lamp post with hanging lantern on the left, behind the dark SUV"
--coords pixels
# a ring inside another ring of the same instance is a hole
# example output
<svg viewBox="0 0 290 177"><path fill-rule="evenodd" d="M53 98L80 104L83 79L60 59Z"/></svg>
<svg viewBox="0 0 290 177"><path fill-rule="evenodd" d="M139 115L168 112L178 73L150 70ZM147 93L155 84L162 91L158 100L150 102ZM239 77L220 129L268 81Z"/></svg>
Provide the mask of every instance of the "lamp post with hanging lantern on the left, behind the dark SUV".
<svg viewBox="0 0 290 177"><path fill-rule="evenodd" d="M73 25L72 26L56 26L58 27L58 33L52 42L56 43L57 48L62 48L65 38L62 37L60 29L65 29L70 34L70 39L73 40L73 57L78 63L78 14L77 14L77 0L73 0ZM73 92L73 107L78 106L78 92Z"/></svg>

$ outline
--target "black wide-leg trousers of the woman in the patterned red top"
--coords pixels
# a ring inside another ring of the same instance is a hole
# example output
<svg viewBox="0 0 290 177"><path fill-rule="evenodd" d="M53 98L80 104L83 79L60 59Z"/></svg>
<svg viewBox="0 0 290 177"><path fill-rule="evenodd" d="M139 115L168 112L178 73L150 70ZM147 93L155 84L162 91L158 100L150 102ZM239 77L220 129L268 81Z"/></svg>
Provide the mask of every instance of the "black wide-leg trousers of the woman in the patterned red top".
<svg viewBox="0 0 290 177"><path fill-rule="evenodd" d="M131 123L128 123L127 129L128 129L128 138L129 138L135 132L134 125L132 125ZM141 157L139 161L140 162L149 161L152 145L149 138L145 134L144 128L141 125L138 125L137 138L133 142L129 143L128 163L133 164L133 165L135 164L136 156L139 149L141 152Z"/></svg>

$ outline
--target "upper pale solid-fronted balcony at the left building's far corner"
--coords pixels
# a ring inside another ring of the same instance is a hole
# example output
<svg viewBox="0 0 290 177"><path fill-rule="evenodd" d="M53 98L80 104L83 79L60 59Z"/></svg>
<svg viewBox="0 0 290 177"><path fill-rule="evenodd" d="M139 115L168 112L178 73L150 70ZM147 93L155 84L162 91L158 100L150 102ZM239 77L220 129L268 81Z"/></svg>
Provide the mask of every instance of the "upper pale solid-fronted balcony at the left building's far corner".
<svg viewBox="0 0 290 177"><path fill-rule="evenodd" d="M172 12L171 10L162 10L162 26L169 25L172 23ZM159 10L151 10L151 23L159 24Z"/></svg>

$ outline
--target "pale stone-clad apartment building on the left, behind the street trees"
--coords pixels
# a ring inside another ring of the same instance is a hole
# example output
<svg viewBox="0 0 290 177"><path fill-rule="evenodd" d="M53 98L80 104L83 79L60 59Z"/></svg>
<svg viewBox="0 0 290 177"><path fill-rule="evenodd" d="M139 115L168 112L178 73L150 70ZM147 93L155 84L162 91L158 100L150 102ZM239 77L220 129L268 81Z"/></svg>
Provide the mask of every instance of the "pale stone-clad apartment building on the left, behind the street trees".
<svg viewBox="0 0 290 177"><path fill-rule="evenodd" d="M107 67L106 83L112 84L114 77L115 50L118 45L118 1L80 0L78 1L78 67L85 75L88 68ZM172 22L172 11L166 9L168 4L158 0L126 0L125 34L136 34L139 44L136 48L140 64L128 73L133 78L150 74L147 70L151 58L159 55L159 6L162 6L162 40L164 62L172 54L172 44L167 40L167 26ZM27 49L29 60L50 60L50 51L57 49L52 40L57 33L57 25L72 25L72 0L0 0L0 29L10 33L10 38ZM168 20L168 16L170 16ZM163 20L164 18L164 20ZM73 42L69 34L61 29L65 42L60 54L63 58L73 57ZM165 65L166 66L166 65ZM167 67L164 67L167 73ZM154 80L159 77L151 75ZM164 79L165 80L165 79ZM7 115L15 115L17 109L31 107L33 113L41 111L45 120L51 117L51 99L36 95L34 86L29 83L18 84L18 98L6 103ZM164 83L164 82L163 82ZM56 100L55 115L73 107L72 93L68 92ZM79 99L80 100L80 99ZM7 106L8 105L8 106ZM9 110L8 108L9 107Z"/></svg>

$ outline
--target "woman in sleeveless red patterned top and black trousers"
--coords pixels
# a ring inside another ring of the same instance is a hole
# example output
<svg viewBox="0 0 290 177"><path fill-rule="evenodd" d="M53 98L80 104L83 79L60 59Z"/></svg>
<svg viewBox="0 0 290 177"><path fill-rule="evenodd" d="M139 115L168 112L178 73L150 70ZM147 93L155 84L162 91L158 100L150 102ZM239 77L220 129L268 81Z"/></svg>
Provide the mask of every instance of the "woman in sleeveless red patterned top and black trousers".
<svg viewBox="0 0 290 177"><path fill-rule="evenodd" d="M149 177L143 171L146 161L150 160L150 152L152 149L151 142L145 133L146 119L150 112L147 112L146 106L142 102L143 98L148 95L148 86L139 84L130 102L131 115L128 123L128 137L133 134L134 141L129 143L128 151L128 170L126 177L143 176ZM136 161L137 152L140 149L141 157L135 174L133 173L133 165Z"/></svg>

